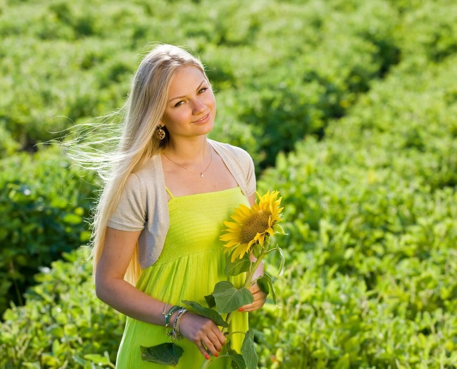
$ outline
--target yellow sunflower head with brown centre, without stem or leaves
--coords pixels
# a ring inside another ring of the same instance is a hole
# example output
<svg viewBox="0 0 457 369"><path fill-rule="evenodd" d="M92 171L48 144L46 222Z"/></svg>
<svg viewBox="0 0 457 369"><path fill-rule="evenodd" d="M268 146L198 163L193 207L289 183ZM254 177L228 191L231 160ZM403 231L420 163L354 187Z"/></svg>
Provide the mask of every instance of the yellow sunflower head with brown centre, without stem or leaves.
<svg viewBox="0 0 457 369"><path fill-rule="evenodd" d="M224 221L224 224L228 227L225 231L228 231L228 233L220 236L219 239L228 241L224 245L226 247L224 254L234 249L232 262L237 257L241 259L252 245L258 243L263 246L265 237L273 235L276 222L282 220L280 218L282 214L279 214L284 209L279 208L282 197L276 200L279 191L270 193L270 190L268 190L264 196L260 196L257 191L255 193L260 199L259 203L255 201L251 208L240 204L231 216L235 222Z"/></svg>

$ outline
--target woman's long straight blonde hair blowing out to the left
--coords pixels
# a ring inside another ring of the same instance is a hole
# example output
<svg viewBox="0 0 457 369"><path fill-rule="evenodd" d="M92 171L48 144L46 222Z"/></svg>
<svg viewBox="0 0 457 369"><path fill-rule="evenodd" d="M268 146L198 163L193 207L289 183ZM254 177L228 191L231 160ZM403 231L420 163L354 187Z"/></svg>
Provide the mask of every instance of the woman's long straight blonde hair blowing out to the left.
<svg viewBox="0 0 457 369"><path fill-rule="evenodd" d="M96 267L105 244L106 227L111 214L117 208L122 189L131 172L138 171L152 155L162 152L169 140L169 132L164 126L165 138L159 140L155 131L160 119L165 115L168 92L173 76L180 67L192 65L202 71L208 84L205 68L197 55L184 48L170 44L155 45L142 59L133 77L133 84L127 102L119 110L121 123L113 126L105 122L97 128L106 129L102 137L93 139L90 134L79 134L61 146L65 155L75 160L85 169L96 170L101 178L101 192L93 211L90 223L91 237L89 259L93 260L93 282L95 283ZM119 112L108 114L112 117ZM85 126L86 124L82 124ZM90 127L95 125L88 124ZM74 126L76 127L76 126ZM89 143L80 144L80 140ZM115 142L115 150L91 150L90 144L110 144ZM128 265L124 280L136 285L141 267L138 262L138 241Z"/></svg>

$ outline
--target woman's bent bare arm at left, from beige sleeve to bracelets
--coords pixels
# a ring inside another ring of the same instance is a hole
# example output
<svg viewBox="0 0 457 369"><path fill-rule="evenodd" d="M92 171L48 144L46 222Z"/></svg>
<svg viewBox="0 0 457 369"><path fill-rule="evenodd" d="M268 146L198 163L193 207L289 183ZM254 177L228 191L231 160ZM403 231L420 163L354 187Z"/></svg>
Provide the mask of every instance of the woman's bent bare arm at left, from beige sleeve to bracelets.
<svg viewBox="0 0 457 369"><path fill-rule="evenodd" d="M154 299L123 279L140 233L106 228L105 247L96 270L96 295L126 316L165 326L162 312L168 301ZM167 313L172 306L167 305ZM170 329L177 314L176 311L170 317Z"/></svg>

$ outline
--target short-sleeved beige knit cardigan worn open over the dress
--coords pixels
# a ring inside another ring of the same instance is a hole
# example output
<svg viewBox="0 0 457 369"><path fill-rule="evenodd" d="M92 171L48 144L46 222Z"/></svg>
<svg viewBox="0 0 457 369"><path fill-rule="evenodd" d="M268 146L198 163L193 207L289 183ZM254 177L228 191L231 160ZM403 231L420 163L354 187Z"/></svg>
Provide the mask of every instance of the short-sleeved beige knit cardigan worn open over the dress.
<svg viewBox="0 0 457 369"><path fill-rule="evenodd" d="M207 140L249 198L256 189L254 162L249 153L238 146ZM138 261L144 269L159 259L169 225L162 159L156 154L142 169L130 173L108 226L117 230L142 230L138 237Z"/></svg>

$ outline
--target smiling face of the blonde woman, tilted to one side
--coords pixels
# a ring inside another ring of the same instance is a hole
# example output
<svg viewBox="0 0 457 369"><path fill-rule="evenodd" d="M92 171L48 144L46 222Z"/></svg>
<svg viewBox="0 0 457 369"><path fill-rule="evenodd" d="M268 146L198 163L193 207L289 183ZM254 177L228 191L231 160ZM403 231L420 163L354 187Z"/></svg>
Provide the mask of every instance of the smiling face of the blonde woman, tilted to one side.
<svg viewBox="0 0 457 369"><path fill-rule="evenodd" d="M205 122L196 122L208 113ZM170 136L207 134L213 129L215 114L216 101L213 90L203 73L194 66L181 67L171 81L162 120Z"/></svg>

